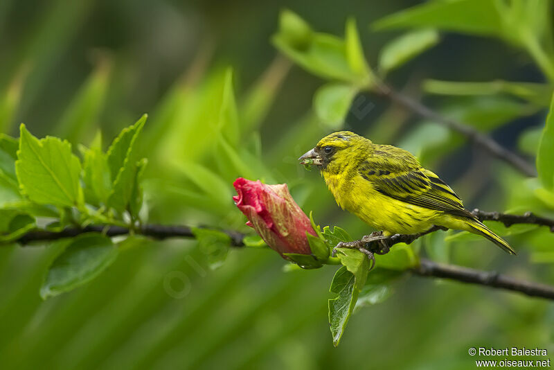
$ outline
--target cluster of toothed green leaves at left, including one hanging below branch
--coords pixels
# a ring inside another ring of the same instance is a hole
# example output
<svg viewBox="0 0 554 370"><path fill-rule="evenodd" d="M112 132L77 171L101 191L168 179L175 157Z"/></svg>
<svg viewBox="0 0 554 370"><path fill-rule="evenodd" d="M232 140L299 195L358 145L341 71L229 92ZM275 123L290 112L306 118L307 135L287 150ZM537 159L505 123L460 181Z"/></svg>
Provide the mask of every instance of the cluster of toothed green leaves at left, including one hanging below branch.
<svg viewBox="0 0 554 370"><path fill-rule="evenodd" d="M134 229L146 217L142 177L147 161L138 157L144 115L102 151L100 135L90 148L55 136L37 139L21 125L19 139L0 138L1 242L13 243L39 229L61 231L87 224ZM43 298L93 279L117 256L102 234L83 234L60 243L41 289Z"/></svg>

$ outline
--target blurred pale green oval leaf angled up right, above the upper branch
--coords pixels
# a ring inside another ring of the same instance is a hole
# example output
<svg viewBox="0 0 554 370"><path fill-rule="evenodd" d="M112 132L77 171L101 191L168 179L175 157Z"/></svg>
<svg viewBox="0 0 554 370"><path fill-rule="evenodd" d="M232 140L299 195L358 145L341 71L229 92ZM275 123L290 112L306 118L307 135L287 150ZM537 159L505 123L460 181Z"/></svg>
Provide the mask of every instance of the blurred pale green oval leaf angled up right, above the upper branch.
<svg viewBox="0 0 554 370"><path fill-rule="evenodd" d="M379 71L392 71L427 49L438 44L438 32L434 29L413 30L393 39L379 54Z"/></svg>

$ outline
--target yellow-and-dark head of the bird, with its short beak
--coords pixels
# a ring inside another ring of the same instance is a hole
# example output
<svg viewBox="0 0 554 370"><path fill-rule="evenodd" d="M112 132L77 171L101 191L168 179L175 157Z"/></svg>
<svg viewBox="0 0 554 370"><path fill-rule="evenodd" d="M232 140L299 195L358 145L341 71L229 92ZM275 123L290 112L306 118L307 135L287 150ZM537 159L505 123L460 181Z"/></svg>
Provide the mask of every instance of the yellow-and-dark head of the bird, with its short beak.
<svg viewBox="0 0 554 370"><path fill-rule="evenodd" d="M366 157L372 143L369 139L350 131L334 132L317 143L310 151L298 158L300 164L313 164L322 171L339 173L348 164L355 164Z"/></svg>

